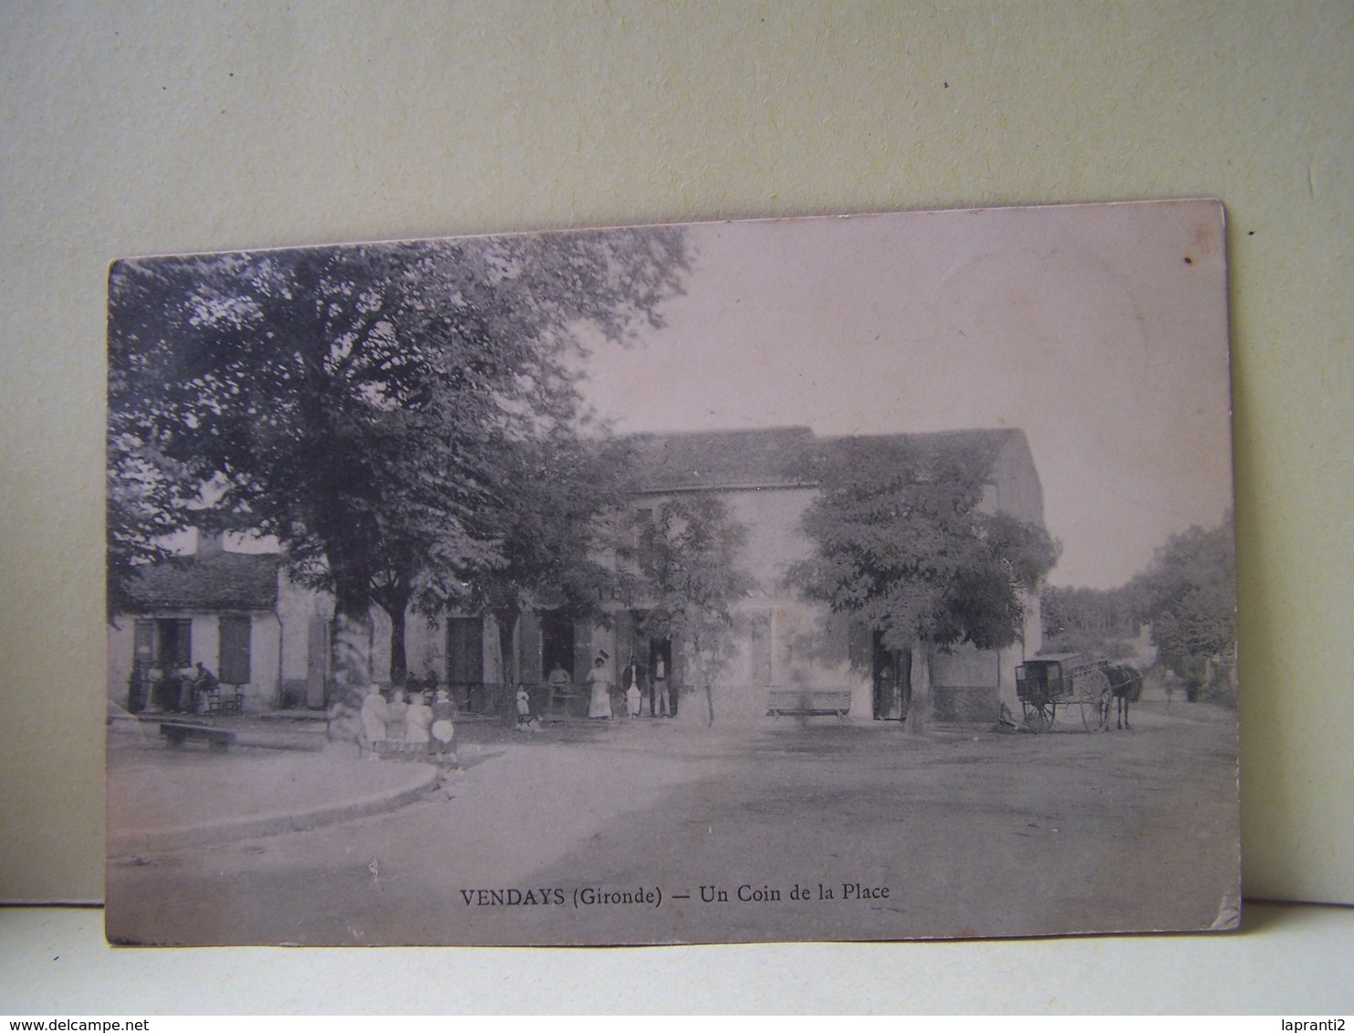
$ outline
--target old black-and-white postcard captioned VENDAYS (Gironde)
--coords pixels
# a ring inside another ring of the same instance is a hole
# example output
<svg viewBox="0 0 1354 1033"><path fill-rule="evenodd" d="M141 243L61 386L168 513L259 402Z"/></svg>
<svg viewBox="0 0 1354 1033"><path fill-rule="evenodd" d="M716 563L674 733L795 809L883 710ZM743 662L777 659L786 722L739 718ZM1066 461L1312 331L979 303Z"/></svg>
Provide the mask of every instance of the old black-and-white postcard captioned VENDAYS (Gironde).
<svg viewBox="0 0 1354 1033"><path fill-rule="evenodd" d="M116 944L1225 930L1208 200L127 259Z"/></svg>

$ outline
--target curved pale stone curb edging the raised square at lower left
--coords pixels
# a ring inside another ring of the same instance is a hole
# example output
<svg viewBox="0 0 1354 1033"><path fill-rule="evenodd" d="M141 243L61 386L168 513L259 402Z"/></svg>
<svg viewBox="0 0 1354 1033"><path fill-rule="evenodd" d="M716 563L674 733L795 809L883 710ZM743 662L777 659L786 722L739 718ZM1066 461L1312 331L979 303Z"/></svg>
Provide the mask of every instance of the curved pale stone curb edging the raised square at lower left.
<svg viewBox="0 0 1354 1033"><path fill-rule="evenodd" d="M253 839L260 835L278 835L279 833L299 833L307 829L337 825L338 822L349 822L353 818L366 818L371 814L394 811L413 803L432 789L437 784L439 777L440 772L432 765L418 765L417 777L412 777L402 787L383 789L382 792L368 793L356 799L307 807L302 811L276 811L274 814L227 818L218 822L202 822L199 825L169 826L167 829L149 829L116 835L110 834L107 846L108 857L169 853L172 850L214 846L237 839Z"/></svg>

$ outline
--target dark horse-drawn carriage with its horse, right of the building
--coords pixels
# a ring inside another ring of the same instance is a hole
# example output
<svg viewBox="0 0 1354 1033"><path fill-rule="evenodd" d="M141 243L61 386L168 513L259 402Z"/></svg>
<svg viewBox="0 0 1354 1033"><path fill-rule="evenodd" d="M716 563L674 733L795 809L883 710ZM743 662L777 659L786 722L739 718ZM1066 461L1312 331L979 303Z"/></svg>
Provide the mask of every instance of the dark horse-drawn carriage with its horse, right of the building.
<svg viewBox="0 0 1354 1033"><path fill-rule="evenodd" d="M1030 731L1048 730L1059 707L1079 708L1086 731L1099 731L1109 724L1116 699L1121 700L1121 727L1127 727L1127 703L1141 690L1137 670L1085 653L1051 653L1016 667L1016 696Z"/></svg>

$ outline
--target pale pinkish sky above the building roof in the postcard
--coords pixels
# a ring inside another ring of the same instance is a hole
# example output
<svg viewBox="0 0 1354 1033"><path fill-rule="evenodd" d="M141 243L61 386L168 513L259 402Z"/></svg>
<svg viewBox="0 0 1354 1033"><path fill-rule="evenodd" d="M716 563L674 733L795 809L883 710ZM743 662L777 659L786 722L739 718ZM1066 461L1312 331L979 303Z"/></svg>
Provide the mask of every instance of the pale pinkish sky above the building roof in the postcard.
<svg viewBox="0 0 1354 1033"><path fill-rule="evenodd" d="M691 226L696 272L640 345L596 348L619 432L1025 431L1063 556L1112 588L1231 506L1212 202Z"/></svg>

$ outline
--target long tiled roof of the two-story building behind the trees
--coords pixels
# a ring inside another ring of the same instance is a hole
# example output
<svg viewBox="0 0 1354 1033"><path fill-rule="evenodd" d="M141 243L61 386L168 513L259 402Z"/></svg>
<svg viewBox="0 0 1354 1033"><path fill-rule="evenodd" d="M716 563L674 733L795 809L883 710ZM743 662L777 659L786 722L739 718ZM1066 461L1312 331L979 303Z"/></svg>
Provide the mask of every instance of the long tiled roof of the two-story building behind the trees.
<svg viewBox="0 0 1354 1033"><path fill-rule="evenodd" d="M896 441L936 452L961 449L988 468L1002 447L1022 432L942 431L921 435L815 437L807 426L764 431L709 431L674 435L632 435L626 439L643 490L700 487L783 487L812 485L819 462L848 455L861 441Z"/></svg>

